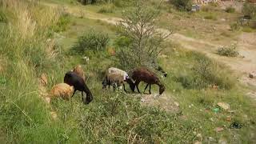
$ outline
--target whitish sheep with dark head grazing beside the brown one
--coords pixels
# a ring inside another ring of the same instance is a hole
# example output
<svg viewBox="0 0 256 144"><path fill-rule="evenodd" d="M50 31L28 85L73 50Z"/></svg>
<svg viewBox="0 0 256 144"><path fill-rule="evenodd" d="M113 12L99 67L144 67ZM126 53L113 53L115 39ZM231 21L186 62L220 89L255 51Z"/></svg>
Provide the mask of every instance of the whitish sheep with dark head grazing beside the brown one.
<svg viewBox="0 0 256 144"><path fill-rule="evenodd" d="M124 82L127 82L130 86L130 90L134 91L134 82L129 78L128 74L118 68L110 67L106 71L106 78L104 78L104 80L102 81L102 89L106 88L106 85L109 85L109 88L110 85L112 85L115 89L116 86L121 86L122 84L123 89L126 91L126 86Z"/></svg>

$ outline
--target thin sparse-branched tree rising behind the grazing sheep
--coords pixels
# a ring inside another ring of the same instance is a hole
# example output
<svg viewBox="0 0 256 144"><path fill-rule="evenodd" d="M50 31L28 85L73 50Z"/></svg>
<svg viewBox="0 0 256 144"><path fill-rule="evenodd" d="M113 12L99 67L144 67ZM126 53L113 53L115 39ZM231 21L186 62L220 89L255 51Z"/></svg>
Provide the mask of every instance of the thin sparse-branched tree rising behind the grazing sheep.
<svg viewBox="0 0 256 144"><path fill-rule="evenodd" d="M157 65L158 54L163 50L162 42L170 35L157 30L155 18L158 7L143 6L137 2L135 8L122 14L118 24L118 60L124 69L136 66Z"/></svg>

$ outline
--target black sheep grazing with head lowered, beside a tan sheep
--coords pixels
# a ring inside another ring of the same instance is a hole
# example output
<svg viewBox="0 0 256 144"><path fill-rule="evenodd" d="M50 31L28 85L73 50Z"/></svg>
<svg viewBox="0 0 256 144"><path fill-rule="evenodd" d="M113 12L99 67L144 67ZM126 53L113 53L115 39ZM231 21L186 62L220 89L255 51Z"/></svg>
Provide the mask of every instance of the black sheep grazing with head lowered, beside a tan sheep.
<svg viewBox="0 0 256 144"><path fill-rule="evenodd" d="M85 81L74 71L69 71L65 74L64 82L69 84L70 86L74 86L74 93L76 90L86 93L86 100L84 101L82 94L82 102L85 104L89 104L93 100L93 95L91 94L89 88L86 86ZM72 97L74 96L74 93Z"/></svg>

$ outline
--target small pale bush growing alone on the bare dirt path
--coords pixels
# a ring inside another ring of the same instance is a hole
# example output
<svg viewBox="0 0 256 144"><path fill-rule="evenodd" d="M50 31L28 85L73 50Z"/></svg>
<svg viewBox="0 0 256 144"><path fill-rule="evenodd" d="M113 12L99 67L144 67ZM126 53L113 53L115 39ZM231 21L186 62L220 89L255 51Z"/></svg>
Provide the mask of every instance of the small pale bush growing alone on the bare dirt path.
<svg viewBox="0 0 256 144"><path fill-rule="evenodd" d="M220 46L217 50L217 54L227 56L227 57L237 57L238 50L236 50L236 45L231 46Z"/></svg>

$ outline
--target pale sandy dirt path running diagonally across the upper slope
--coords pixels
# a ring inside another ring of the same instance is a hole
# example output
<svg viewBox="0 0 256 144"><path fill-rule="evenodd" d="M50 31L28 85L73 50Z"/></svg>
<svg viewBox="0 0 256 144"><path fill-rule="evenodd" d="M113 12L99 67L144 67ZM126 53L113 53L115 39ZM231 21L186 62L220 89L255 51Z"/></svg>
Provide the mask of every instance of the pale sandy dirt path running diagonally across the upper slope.
<svg viewBox="0 0 256 144"><path fill-rule="evenodd" d="M58 6L57 4L51 4L51 3L44 3L47 6ZM95 20L101 20L103 22L107 22L110 24L117 24L121 18L110 18L102 14L97 14L94 12L91 12L89 10L85 10L82 7L79 6L63 6L63 9L66 10L66 12L73 14L77 17L84 17L84 18L90 18ZM169 30L165 29L158 29L159 31L162 31L164 33L169 33ZM244 56L238 57L238 58L227 58L219 56L218 54L215 54L216 50L218 49L218 44L213 42L206 42L202 39L195 39L195 38L189 38L182 34L172 34L169 38L169 40L173 42L178 42L182 47L189 50L196 50L201 53L206 54L210 58L214 58L218 62L222 62L226 64L226 66L230 66L230 68L239 74L242 74L242 77L240 78L240 81L246 85L254 86L255 90L252 91L252 94L250 96L254 97L256 99L256 80L255 78L248 78L248 74L251 71L256 71L256 34L251 33L243 33L240 36L238 36L238 41L236 42L238 44L238 50L239 54ZM231 42L230 42L231 43Z"/></svg>

